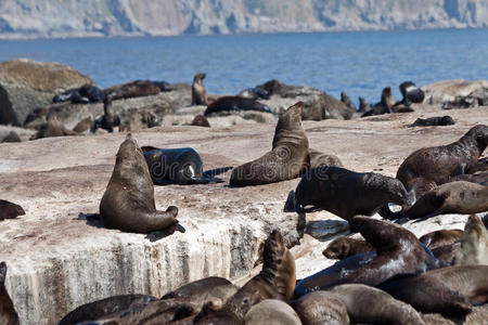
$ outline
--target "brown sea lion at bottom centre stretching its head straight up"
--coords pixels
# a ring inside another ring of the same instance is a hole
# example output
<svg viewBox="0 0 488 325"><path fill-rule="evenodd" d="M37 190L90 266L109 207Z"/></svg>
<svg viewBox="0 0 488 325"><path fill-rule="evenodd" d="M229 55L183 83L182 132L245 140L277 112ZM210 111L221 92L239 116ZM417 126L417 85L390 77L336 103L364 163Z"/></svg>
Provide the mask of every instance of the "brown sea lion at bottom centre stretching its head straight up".
<svg viewBox="0 0 488 325"><path fill-rule="evenodd" d="M295 259L283 244L279 231L274 230L266 239L262 259L262 270L258 275L239 289L221 309L211 306L204 308L195 324L216 324L219 320L242 324L249 309L261 300L291 299L296 283Z"/></svg>

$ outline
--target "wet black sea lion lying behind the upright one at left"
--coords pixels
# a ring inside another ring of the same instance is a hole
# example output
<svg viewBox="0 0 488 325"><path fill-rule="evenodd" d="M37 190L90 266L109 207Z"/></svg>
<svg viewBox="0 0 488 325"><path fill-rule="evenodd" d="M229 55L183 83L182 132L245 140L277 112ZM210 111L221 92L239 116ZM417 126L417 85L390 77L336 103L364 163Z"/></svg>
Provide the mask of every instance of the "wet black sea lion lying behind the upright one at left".
<svg viewBox="0 0 488 325"><path fill-rule="evenodd" d="M203 160L192 147L162 150L154 146L141 147L151 179L156 185L221 183L221 179L203 171ZM227 168L228 169L228 168Z"/></svg>

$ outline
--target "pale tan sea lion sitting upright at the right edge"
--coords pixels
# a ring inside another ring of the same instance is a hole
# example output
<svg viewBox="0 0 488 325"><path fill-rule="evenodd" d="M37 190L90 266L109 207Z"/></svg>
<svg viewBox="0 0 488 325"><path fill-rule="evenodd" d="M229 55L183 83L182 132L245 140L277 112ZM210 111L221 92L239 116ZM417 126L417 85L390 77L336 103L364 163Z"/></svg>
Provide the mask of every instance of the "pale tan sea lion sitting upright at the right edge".
<svg viewBox="0 0 488 325"><path fill-rule="evenodd" d="M471 214L464 226L454 265L488 265L488 231L481 219Z"/></svg>

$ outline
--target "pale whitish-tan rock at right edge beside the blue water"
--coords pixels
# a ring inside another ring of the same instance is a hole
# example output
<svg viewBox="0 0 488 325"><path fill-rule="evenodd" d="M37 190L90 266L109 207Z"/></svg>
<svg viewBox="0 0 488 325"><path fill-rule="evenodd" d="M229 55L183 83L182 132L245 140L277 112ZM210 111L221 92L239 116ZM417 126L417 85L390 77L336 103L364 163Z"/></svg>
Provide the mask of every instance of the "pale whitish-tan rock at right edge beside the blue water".
<svg viewBox="0 0 488 325"><path fill-rule="evenodd" d="M445 109L488 105L487 80L442 80L422 87L424 103Z"/></svg>

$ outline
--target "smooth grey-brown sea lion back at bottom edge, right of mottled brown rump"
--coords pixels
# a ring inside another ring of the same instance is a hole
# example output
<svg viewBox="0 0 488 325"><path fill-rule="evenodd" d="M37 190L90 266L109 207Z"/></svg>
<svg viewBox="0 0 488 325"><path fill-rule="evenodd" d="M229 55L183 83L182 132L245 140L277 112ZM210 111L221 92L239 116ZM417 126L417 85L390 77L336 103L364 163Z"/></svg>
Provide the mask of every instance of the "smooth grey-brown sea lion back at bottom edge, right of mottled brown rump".
<svg viewBox="0 0 488 325"><path fill-rule="evenodd" d="M351 323L425 324L413 307L370 286L345 284L330 292L345 303Z"/></svg>

